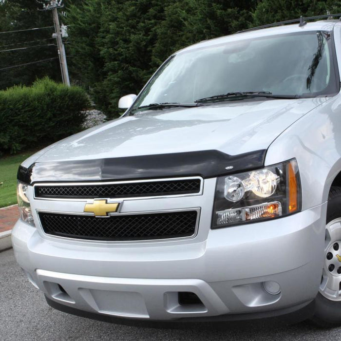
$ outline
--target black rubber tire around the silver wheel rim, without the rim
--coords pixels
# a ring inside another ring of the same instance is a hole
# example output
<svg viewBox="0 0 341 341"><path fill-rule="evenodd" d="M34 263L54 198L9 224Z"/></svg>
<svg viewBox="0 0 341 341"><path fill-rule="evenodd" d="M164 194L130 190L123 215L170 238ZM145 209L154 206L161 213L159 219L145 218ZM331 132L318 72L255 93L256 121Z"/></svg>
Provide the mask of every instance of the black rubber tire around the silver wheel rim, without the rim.
<svg viewBox="0 0 341 341"><path fill-rule="evenodd" d="M336 218L341 218L341 187L332 187L330 189L326 224ZM328 300L318 293L315 299L315 314L311 321L323 328L340 326L341 302Z"/></svg>

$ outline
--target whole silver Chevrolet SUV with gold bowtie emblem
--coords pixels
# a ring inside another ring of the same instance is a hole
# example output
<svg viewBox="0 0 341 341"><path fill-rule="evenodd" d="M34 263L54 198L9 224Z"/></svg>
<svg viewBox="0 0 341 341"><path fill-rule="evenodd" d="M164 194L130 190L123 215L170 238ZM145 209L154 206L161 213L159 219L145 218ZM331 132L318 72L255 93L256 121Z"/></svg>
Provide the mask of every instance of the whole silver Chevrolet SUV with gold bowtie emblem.
<svg viewBox="0 0 341 341"><path fill-rule="evenodd" d="M340 324L340 70L337 20L175 53L122 117L22 163L19 265L96 319Z"/></svg>

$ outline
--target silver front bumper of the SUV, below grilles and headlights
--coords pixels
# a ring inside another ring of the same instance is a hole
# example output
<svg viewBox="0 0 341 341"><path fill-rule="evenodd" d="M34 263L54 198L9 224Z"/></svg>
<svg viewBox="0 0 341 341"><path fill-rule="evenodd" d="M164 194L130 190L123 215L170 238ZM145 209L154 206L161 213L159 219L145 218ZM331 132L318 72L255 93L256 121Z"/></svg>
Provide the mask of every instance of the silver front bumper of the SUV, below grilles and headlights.
<svg viewBox="0 0 341 341"><path fill-rule="evenodd" d="M153 321L262 316L302 308L316 297L325 213L323 204L273 221L209 230L198 243L74 243L45 238L21 221L12 239L31 282L70 309ZM265 281L278 283L281 292L269 294ZM178 292L193 292L203 304L181 305Z"/></svg>

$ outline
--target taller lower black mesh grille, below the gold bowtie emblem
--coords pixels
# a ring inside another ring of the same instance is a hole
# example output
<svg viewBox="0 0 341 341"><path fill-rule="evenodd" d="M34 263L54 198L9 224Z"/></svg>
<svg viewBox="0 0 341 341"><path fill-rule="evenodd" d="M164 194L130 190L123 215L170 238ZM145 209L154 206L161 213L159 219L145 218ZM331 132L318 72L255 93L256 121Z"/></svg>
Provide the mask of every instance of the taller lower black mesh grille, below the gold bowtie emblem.
<svg viewBox="0 0 341 341"><path fill-rule="evenodd" d="M148 240L194 234L197 212L170 212L108 218L39 212L45 233L91 240Z"/></svg>

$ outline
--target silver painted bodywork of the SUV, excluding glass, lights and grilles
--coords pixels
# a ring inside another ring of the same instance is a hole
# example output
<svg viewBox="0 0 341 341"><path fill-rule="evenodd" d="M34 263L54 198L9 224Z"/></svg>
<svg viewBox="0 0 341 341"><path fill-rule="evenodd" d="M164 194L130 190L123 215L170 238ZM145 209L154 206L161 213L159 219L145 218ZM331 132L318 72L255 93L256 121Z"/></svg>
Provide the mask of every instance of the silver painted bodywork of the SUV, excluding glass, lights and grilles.
<svg viewBox="0 0 341 341"><path fill-rule="evenodd" d="M334 21L246 32L201 42L178 53L241 38L333 28L341 72L341 23ZM265 222L211 229L214 177L203 179L195 195L122 198L123 214L198 209L193 237L88 241L45 234L38 217L39 211L83 214L87 199L36 198L30 187L28 197L37 228L22 221L16 224L13 246L17 261L50 300L107 316L172 320L303 306L314 300L321 283L328 193L341 171L340 132L340 94L256 98L123 115L45 148L22 166L209 150L228 155L266 150L265 166L296 158L302 211ZM281 294L266 294L265 281L280 284ZM180 305L174 293L187 291L197 294L204 306Z"/></svg>

